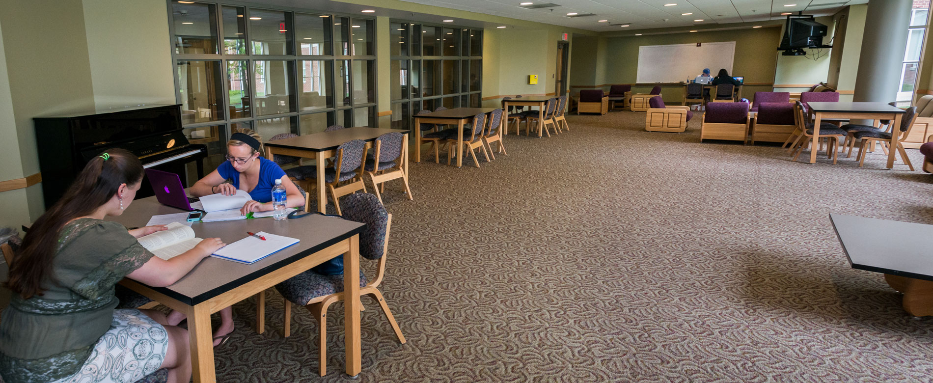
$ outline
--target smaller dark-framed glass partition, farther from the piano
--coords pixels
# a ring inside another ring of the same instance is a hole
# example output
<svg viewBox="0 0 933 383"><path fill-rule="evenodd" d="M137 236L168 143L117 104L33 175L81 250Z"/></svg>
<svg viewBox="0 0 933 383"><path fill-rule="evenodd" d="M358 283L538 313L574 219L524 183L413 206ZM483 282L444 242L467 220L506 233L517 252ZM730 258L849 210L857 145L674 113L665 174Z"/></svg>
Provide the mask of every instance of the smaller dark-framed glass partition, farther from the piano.
<svg viewBox="0 0 933 383"><path fill-rule="evenodd" d="M391 21L389 38L393 129L421 110L480 106L482 30Z"/></svg>

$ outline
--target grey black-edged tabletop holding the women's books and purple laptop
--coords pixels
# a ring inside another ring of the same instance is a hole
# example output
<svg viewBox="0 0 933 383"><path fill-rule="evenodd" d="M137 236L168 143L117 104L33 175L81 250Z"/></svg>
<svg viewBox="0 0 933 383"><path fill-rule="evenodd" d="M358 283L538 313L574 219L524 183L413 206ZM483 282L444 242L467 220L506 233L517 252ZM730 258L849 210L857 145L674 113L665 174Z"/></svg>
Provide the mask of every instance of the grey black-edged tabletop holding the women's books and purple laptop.
<svg viewBox="0 0 933 383"><path fill-rule="evenodd" d="M118 217L111 217L110 220L127 227L140 227L146 226L149 218L154 214L175 212L184 211L162 205L155 197L149 197L132 201L126 212ZM358 222L318 214L284 221L276 221L269 217L226 222L196 222L191 228L201 239L216 237L223 239L224 243L232 243L244 239L247 231L254 233L265 231L300 241L252 265L207 257L187 276L173 285L152 289L177 299L179 302L194 306L250 280L256 280L302 257L321 251L343 239L353 237L362 232L365 226Z"/></svg>

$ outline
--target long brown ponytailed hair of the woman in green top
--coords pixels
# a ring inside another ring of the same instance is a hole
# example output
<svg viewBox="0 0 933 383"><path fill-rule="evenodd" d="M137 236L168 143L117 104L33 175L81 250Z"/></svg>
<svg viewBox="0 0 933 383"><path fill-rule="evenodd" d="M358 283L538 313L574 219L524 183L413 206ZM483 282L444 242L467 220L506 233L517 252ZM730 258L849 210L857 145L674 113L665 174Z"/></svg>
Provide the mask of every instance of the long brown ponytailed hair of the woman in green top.
<svg viewBox="0 0 933 383"><path fill-rule="evenodd" d="M54 281L52 261L58 252L58 238L69 221L91 214L117 194L122 184L143 180L143 164L123 149L110 149L94 157L77 174L64 196L42 214L22 239L22 247L9 265L6 286L23 299L42 295L45 282Z"/></svg>

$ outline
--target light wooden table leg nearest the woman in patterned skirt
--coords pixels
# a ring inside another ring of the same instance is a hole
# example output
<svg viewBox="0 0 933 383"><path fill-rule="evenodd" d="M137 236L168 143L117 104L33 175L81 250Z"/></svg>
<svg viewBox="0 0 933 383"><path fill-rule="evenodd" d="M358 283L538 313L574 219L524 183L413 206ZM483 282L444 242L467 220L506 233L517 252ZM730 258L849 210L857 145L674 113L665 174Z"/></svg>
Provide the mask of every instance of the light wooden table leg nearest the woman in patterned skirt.
<svg viewBox="0 0 933 383"><path fill-rule="evenodd" d="M357 282L358 283L358 282ZM188 341L191 344L191 372L194 383L216 383L214 339L208 303L188 310Z"/></svg>

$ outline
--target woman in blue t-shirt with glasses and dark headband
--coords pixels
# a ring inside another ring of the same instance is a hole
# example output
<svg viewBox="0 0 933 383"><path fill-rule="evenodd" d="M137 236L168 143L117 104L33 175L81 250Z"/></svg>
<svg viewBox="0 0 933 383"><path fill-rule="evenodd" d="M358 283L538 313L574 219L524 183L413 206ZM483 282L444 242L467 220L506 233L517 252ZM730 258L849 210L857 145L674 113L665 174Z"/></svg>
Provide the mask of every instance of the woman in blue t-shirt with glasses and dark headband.
<svg viewBox="0 0 933 383"><path fill-rule="evenodd" d="M275 180L281 179L282 185L285 185L287 206L304 206L304 196L299 192L298 186L285 175L285 171L275 162L260 156L262 144L259 140L258 133L253 130L231 134L230 141L227 142L227 160L220 164L216 171L211 171L188 188L191 195L202 197L220 193L232 196L236 194L237 189L241 189L253 198L243 205L241 213L269 212L272 211L272 186L275 185ZM228 184L227 180L231 180L232 183ZM173 311L168 316L171 325L176 325L184 319L185 314L179 311ZM233 310L221 309L220 327L214 332L214 345L226 341L232 332Z"/></svg>

